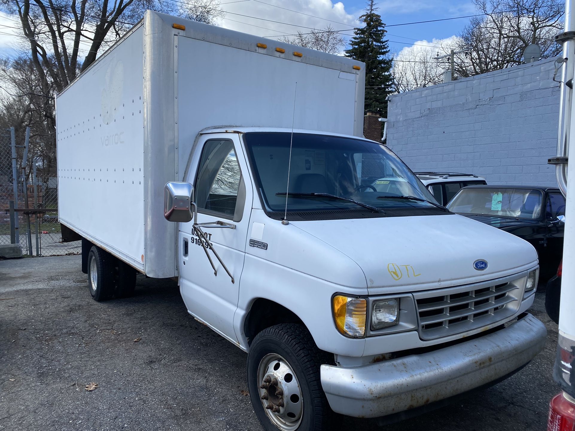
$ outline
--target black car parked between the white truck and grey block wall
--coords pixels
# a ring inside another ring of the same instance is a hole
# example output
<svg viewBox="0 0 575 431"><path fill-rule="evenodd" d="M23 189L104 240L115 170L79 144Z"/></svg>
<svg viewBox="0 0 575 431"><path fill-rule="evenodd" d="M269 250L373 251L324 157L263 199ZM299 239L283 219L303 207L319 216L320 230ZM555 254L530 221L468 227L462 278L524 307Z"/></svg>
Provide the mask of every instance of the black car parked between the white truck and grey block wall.
<svg viewBox="0 0 575 431"><path fill-rule="evenodd" d="M539 255L541 280L557 270L565 229L565 198L558 188L468 186L455 195L447 208L531 243Z"/></svg>

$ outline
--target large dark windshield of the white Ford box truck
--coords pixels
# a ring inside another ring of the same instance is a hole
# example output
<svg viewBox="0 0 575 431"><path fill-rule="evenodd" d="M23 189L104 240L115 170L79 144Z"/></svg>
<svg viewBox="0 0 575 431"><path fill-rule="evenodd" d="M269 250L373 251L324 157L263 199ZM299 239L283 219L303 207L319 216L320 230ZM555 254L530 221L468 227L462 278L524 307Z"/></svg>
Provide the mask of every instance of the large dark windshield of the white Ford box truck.
<svg viewBox="0 0 575 431"><path fill-rule="evenodd" d="M435 208L428 202L380 198L413 196L436 202L407 166L383 145L347 137L294 133L290 160L291 135L250 132L243 136L267 211L285 210L288 166L288 211L354 209L385 213L393 207Z"/></svg>

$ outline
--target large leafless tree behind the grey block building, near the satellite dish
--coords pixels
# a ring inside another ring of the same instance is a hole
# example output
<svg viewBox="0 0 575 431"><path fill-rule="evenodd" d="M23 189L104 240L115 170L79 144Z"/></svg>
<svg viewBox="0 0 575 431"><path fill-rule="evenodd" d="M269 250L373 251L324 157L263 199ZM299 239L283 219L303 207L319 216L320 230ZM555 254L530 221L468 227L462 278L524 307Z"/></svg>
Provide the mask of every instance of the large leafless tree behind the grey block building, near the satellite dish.
<svg viewBox="0 0 575 431"><path fill-rule="evenodd" d="M521 64L523 50L538 44L542 58L558 55L554 36L562 28L564 3L555 0L474 0L484 17L462 30L455 60L459 76L472 76Z"/></svg>

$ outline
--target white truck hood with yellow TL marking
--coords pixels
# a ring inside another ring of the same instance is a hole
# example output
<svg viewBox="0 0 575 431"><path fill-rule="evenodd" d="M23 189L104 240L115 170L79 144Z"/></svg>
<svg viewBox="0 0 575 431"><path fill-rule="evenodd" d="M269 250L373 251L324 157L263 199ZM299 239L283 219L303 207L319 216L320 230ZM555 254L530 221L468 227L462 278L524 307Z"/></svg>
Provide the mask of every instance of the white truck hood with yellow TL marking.
<svg viewBox="0 0 575 431"><path fill-rule="evenodd" d="M290 223L354 260L370 294L481 282L537 264L527 241L457 214ZM477 260L487 267L476 270Z"/></svg>

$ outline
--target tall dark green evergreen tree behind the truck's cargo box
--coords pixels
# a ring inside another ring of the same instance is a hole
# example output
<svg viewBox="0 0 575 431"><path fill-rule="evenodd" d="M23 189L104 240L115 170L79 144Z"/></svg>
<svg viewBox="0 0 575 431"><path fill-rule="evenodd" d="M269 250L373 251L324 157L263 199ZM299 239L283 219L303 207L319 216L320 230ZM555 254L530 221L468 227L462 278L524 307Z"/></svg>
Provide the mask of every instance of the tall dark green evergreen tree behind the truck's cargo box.
<svg viewBox="0 0 575 431"><path fill-rule="evenodd" d="M388 41L385 39L385 24L375 13L374 0L367 0L365 13L359 20L365 23L354 30L346 56L365 62L365 107L366 111L377 111L387 115L385 98L391 93L392 59L389 58Z"/></svg>

